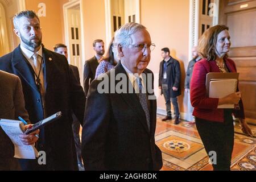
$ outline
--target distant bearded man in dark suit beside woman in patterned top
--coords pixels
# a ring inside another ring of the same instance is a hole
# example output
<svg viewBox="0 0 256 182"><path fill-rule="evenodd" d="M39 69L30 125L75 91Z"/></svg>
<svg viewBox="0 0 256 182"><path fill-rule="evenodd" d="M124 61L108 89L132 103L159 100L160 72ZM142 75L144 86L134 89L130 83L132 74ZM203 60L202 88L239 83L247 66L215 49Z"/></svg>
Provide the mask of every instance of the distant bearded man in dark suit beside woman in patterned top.
<svg viewBox="0 0 256 182"><path fill-rule="evenodd" d="M90 83L95 78L96 69L100 61L104 59L103 55L105 53L104 42L101 39L93 41L93 49L96 55L91 59L85 61L84 64L84 92L85 96L88 94Z"/></svg>

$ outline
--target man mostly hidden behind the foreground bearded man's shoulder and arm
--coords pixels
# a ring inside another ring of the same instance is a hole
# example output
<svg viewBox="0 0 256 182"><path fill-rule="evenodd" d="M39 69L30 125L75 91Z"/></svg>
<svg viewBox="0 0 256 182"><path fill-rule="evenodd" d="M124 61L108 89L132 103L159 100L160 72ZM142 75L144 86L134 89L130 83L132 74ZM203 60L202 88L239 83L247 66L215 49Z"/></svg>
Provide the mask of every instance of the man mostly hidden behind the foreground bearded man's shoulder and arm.
<svg viewBox="0 0 256 182"><path fill-rule="evenodd" d="M54 52L60 53L61 55L64 55L66 59L68 59L68 49L67 46L64 44L56 44L54 47ZM79 76L79 69L74 66L69 64L69 68L73 72L76 81L78 84L80 84L80 76ZM76 115L72 113L72 118L73 118L73 123L72 123L72 129L73 129L73 134L74 134L74 139L75 139L75 146L76 146L76 156L77 156L77 163L79 166L79 170L82 171L84 170L84 166L82 165L82 156L81 156L81 140L80 140L80 122L76 118Z"/></svg>

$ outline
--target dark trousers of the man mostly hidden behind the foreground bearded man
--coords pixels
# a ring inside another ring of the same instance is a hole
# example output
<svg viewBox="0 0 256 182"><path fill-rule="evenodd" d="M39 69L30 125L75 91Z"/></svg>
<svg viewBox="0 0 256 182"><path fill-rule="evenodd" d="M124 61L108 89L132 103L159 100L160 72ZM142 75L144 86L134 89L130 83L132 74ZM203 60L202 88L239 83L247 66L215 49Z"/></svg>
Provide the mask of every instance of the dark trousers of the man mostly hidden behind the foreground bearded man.
<svg viewBox="0 0 256 182"><path fill-rule="evenodd" d="M74 114L72 114L72 118L73 118L72 129L73 129L73 135L74 135L75 146L76 146L77 163L82 164L82 156L81 156L82 147L81 147L81 140L79 136L80 122Z"/></svg>

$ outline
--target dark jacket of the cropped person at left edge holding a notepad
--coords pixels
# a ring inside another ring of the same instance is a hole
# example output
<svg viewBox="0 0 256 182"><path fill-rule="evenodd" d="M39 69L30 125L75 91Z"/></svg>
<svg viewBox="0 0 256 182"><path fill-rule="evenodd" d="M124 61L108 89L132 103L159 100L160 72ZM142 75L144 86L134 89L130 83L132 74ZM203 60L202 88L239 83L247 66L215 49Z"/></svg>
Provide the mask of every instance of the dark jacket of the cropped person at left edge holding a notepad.
<svg viewBox="0 0 256 182"><path fill-rule="evenodd" d="M0 88L0 118L17 120L20 116L30 123L19 77L0 71ZM11 162L15 160L13 156L13 142L0 127L0 170L15 169ZM8 162L3 164L3 161ZM18 164L18 161L16 163Z"/></svg>

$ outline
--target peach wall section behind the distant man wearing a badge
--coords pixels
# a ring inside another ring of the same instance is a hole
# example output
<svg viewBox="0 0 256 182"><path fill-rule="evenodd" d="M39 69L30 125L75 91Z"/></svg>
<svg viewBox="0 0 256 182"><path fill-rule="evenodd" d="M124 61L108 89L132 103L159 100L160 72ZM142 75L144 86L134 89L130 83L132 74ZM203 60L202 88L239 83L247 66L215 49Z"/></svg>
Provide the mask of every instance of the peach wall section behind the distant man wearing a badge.
<svg viewBox="0 0 256 182"><path fill-rule="evenodd" d="M148 68L154 73L159 73L159 64L162 61L160 52L163 47L170 48L171 56L180 62L183 94L179 97L179 105L180 111L185 112L187 97L184 97L184 78L189 57L189 1L141 0L141 23L150 32L152 43L156 44ZM158 82L156 79L155 81ZM164 97L159 96L158 107L165 109L164 103Z"/></svg>

